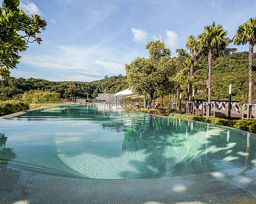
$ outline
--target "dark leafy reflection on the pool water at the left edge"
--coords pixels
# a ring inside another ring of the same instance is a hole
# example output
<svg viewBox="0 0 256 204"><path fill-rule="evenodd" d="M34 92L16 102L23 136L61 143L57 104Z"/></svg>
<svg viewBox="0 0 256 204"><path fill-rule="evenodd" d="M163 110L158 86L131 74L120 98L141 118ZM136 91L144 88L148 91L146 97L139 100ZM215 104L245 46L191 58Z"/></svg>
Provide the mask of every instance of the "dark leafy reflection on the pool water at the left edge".
<svg viewBox="0 0 256 204"><path fill-rule="evenodd" d="M0 133L0 169L7 169L7 164L16 158L13 148L5 147L7 142L5 134Z"/></svg>

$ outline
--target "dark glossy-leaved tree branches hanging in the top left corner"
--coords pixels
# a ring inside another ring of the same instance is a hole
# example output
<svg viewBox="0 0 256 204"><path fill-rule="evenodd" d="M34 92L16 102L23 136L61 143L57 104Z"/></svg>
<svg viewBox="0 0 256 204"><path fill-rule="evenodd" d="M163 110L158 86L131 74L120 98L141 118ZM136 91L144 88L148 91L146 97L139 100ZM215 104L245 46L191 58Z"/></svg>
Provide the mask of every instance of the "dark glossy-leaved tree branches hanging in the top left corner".
<svg viewBox="0 0 256 204"><path fill-rule="evenodd" d="M37 42L40 30L45 30L47 22L39 15L29 17L23 10L19 10L18 0L4 0L0 8L0 75L7 78L9 69L16 68L20 58L19 52L27 49L28 43ZM32 39L32 40L31 40Z"/></svg>

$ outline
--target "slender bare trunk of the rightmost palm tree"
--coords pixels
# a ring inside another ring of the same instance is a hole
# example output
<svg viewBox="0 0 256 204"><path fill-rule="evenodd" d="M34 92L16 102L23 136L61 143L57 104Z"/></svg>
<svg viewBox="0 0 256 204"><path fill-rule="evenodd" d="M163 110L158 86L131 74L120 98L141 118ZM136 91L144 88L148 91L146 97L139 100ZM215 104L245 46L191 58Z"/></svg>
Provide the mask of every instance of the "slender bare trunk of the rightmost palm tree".
<svg viewBox="0 0 256 204"><path fill-rule="evenodd" d="M249 44L249 55L248 55L248 61L249 61L249 64L248 64L248 68L249 68L249 97L248 97L248 104L252 104L252 56L253 54L253 43L250 42ZM249 114L249 118L251 117L251 107L249 106L249 111L248 111L248 114Z"/></svg>

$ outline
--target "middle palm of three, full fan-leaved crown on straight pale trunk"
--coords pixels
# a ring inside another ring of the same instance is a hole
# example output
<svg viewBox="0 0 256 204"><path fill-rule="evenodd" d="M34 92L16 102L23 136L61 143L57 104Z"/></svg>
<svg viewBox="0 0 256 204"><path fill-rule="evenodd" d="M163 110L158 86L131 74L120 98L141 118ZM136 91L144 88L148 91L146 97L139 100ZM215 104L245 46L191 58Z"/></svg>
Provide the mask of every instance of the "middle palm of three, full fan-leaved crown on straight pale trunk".
<svg viewBox="0 0 256 204"><path fill-rule="evenodd" d="M222 28L221 24L215 25L213 21L211 25L204 27L204 32L198 36L199 50L198 56L201 58L207 58L208 62L208 75L207 75L207 91L206 100L211 101L211 72L212 63L217 57L227 55L236 52L236 48L226 48L227 45L232 42L227 38L227 31ZM210 109L209 109L210 111ZM207 113L208 115L208 113Z"/></svg>

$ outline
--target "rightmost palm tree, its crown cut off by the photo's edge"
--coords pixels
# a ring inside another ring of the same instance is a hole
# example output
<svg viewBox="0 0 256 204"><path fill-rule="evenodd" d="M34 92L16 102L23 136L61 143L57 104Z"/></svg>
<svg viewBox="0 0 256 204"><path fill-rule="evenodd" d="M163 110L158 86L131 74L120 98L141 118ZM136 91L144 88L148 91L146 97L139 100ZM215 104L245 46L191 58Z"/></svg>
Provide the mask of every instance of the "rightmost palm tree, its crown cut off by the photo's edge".
<svg viewBox="0 0 256 204"><path fill-rule="evenodd" d="M249 43L249 97L248 104L252 104L252 60L253 46L256 44L256 18L250 18L238 27L236 35L233 37L235 45L246 45ZM249 111L250 114L250 111Z"/></svg>

